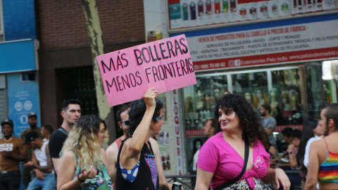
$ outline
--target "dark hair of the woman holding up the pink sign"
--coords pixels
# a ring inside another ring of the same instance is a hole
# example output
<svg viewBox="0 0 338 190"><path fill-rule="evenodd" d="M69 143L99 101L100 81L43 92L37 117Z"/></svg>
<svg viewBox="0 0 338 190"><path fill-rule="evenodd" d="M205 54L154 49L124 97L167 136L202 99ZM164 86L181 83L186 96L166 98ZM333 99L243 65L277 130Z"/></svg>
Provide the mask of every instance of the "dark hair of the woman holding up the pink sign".
<svg viewBox="0 0 338 190"><path fill-rule="evenodd" d="M151 118L151 120L154 123L157 122L156 118L160 116L160 110L164 106L163 100L156 99L155 101L156 101L156 108L155 108L153 118ZM146 103L144 102L144 99L138 99L130 103L130 110L128 111L128 115L129 115L128 131L130 132L130 135L134 134L135 129L137 128L137 126L139 126L139 123L142 121L144 113L146 113Z"/></svg>

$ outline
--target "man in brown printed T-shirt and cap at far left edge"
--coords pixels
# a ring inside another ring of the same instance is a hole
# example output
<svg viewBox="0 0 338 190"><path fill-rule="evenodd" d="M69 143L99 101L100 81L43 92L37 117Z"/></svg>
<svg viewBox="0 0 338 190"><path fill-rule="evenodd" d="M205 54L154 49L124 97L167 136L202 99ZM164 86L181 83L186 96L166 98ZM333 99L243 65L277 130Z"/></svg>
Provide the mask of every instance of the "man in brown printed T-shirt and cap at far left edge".
<svg viewBox="0 0 338 190"><path fill-rule="evenodd" d="M6 119L1 122L1 132L4 138L0 139L0 188L1 190L20 189L21 161L27 160L26 147L23 139L13 137L13 121Z"/></svg>

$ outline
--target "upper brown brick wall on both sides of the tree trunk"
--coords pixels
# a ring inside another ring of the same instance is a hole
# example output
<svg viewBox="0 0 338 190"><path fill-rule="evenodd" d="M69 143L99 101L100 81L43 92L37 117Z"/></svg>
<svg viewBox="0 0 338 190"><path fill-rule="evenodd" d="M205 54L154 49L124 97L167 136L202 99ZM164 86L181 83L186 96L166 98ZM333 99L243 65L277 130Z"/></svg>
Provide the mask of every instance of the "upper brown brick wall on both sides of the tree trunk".
<svg viewBox="0 0 338 190"><path fill-rule="evenodd" d="M144 41L143 1L96 0L104 44ZM90 46L82 1L37 1L42 50Z"/></svg>

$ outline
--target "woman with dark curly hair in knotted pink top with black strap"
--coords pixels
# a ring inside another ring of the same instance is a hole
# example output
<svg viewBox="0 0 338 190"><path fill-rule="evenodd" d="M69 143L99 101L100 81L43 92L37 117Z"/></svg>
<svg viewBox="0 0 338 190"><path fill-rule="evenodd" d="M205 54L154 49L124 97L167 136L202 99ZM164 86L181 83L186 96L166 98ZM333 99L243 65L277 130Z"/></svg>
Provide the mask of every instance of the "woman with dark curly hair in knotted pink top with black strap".
<svg viewBox="0 0 338 190"><path fill-rule="evenodd" d="M199 151L195 189L214 189L234 179L244 166L244 139L249 144L249 159L244 175L225 189L270 189L263 183L277 183L289 189L282 169L270 168L268 139L261 120L243 96L227 94L215 105L215 120L222 132L208 139Z"/></svg>

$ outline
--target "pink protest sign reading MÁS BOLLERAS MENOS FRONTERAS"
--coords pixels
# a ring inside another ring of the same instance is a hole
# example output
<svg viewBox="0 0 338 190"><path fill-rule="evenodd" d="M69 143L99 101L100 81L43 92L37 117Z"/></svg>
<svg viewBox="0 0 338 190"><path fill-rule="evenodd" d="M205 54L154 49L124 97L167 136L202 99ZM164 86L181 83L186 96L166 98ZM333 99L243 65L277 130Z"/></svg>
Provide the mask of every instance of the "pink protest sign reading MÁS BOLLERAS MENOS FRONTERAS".
<svg viewBox="0 0 338 190"><path fill-rule="evenodd" d="M149 88L158 94L196 84L184 34L97 56L108 105L142 99Z"/></svg>

